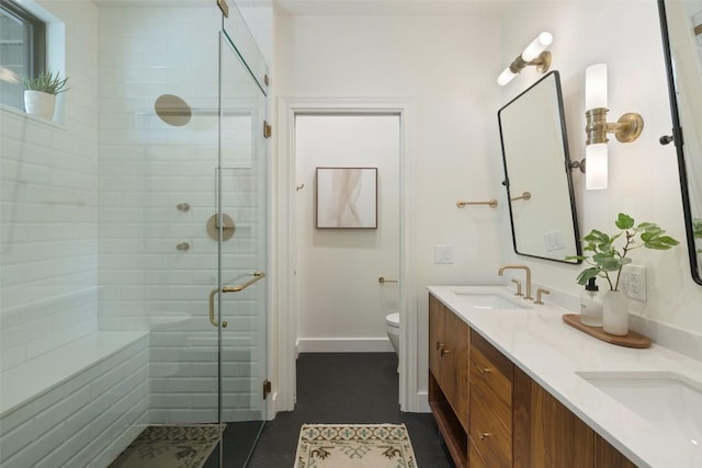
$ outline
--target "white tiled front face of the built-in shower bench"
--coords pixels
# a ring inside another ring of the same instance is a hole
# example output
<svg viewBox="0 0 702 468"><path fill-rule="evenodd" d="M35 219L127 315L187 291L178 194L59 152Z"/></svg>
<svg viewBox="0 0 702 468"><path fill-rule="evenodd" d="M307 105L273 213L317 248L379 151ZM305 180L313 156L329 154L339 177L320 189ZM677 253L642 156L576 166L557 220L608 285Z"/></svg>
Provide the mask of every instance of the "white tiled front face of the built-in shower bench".
<svg viewBox="0 0 702 468"><path fill-rule="evenodd" d="M112 344L102 346L105 356L2 411L0 466L106 466L148 423L148 334L112 333L100 340ZM55 350L54 358L98 354L90 344ZM38 363L22 366L27 376L41 377Z"/></svg>

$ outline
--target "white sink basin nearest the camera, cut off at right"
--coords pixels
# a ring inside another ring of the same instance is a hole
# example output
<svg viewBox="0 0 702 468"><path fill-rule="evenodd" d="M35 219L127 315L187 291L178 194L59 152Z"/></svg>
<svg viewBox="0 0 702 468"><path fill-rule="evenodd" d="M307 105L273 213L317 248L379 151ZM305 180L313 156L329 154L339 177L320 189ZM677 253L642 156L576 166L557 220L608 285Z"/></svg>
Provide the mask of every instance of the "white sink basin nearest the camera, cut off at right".
<svg viewBox="0 0 702 468"><path fill-rule="evenodd" d="M702 452L702 384L667 372L577 374L661 431Z"/></svg>

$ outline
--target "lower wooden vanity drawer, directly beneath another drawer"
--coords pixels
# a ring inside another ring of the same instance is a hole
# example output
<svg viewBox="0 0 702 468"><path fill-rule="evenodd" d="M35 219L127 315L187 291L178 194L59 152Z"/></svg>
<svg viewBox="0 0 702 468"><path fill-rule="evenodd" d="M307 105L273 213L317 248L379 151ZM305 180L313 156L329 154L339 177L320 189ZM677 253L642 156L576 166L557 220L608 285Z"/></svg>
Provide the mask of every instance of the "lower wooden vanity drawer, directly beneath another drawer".
<svg viewBox="0 0 702 468"><path fill-rule="evenodd" d="M484 464L490 468L512 466L512 430L511 424L497 418L482 395L471 388L471 445L477 454L471 453L471 460L476 459L478 466ZM478 459L479 458L479 459ZM471 465L473 468L473 465Z"/></svg>

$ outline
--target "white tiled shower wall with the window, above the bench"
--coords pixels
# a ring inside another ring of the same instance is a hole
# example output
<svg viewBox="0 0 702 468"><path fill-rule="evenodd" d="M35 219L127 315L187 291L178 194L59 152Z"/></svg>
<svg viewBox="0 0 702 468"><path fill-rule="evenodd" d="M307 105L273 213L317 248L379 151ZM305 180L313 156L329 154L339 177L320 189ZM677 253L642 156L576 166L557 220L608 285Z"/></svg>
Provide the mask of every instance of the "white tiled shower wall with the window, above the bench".
<svg viewBox="0 0 702 468"><path fill-rule="evenodd" d="M0 110L0 368L98 326L98 10L41 5L65 22L70 90L61 125Z"/></svg>

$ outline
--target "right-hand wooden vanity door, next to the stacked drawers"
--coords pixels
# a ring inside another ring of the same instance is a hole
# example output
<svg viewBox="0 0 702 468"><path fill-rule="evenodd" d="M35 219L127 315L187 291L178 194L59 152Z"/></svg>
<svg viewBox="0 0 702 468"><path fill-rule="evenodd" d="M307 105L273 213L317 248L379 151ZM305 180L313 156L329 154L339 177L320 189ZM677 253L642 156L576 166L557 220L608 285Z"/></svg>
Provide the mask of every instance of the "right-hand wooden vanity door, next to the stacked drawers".
<svg viewBox="0 0 702 468"><path fill-rule="evenodd" d="M471 329L451 310L446 310L441 380L446 399L463 427L468 427L468 353ZM439 353L442 354L441 351Z"/></svg>

